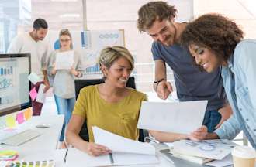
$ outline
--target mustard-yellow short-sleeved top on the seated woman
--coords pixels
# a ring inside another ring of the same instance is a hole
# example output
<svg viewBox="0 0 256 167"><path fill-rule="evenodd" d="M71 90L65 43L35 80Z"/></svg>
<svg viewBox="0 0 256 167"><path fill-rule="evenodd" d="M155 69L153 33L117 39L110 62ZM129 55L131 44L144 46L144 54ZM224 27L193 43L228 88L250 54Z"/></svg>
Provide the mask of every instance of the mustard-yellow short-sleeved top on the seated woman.
<svg viewBox="0 0 256 167"><path fill-rule="evenodd" d="M130 94L116 103L109 103L99 96L98 85L81 89L74 106L73 114L80 115L87 121L89 140L94 141L92 126L137 140L139 130L137 122L142 101L147 101L146 94L132 88Z"/></svg>

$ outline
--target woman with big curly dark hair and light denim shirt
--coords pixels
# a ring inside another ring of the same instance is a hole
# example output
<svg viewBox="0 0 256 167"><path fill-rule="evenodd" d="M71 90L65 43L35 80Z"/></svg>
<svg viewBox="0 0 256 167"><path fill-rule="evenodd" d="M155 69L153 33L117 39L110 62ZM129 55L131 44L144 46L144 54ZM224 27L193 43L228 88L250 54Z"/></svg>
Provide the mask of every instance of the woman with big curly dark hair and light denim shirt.
<svg viewBox="0 0 256 167"><path fill-rule="evenodd" d="M256 40L243 39L235 22L221 15L202 15L189 23L182 44L202 70L222 68L223 87L234 114L213 133L199 128L192 139L233 139L243 130L256 148Z"/></svg>

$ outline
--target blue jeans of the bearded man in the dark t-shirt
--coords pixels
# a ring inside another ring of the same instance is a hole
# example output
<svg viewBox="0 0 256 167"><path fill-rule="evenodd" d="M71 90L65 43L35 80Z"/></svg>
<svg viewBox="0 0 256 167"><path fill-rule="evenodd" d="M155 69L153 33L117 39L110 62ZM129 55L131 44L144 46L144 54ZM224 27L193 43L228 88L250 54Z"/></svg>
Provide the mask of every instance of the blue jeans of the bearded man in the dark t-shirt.
<svg viewBox="0 0 256 167"><path fill-rule="evenodd" d="M213 132L217 124L219 124L221 114L218 111L206 111L202 124L206 125L208 132Z"/></svg>

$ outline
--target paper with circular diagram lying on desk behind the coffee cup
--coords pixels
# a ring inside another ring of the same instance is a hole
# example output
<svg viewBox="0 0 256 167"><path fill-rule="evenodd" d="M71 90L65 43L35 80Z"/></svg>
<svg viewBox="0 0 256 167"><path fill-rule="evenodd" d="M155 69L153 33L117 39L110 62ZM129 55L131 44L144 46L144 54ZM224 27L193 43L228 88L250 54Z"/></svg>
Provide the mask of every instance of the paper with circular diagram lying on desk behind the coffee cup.
<svg viewBox="0 0 256 167"><path fill-rule="evenodd" d="M180 140L173 143L174 151L184 155L199 156L221 160L230 154L236 144L226 139L190 141Z"/></svg>

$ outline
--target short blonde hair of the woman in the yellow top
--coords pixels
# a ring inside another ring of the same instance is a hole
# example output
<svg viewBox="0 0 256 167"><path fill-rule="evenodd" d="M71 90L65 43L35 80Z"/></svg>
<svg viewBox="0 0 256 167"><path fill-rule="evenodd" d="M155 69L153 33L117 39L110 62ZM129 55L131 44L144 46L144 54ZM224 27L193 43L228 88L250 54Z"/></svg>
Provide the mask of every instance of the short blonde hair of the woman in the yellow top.
<svg viewBox="0 0 256 167"><path fill-rule="evenodd" d="M122 46L107 46L105 49L102 49L101 53L99 54L99 66L106 66L110 68L112 63L114 63L119 58L124 57L126 60L129 61L131 70L134 68L134 59L131 53Z"/></svg>

